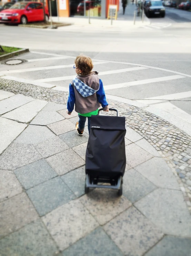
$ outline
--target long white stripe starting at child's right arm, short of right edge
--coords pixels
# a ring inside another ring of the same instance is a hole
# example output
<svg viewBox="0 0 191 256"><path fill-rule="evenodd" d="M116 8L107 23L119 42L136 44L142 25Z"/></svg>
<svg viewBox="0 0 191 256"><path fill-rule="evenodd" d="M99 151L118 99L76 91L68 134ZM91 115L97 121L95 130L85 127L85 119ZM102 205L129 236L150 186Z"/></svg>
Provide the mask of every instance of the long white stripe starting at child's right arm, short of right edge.
<svg viewBox="0 0 191 256"><path fill-rule="evenodd" d="M130 87L130 86L134 86L134 85L144 85L146 83L168 81L168 80L179 79L179 78L184 78L184 77L180 76L180 75L174 75L174 76L151 78L151 79L145 79L145 80L139 80L139 81L126 82L126 83L117 83L114 85L104 86L104 90L117 89L117 88L122 88L122 87Z"/></svg>

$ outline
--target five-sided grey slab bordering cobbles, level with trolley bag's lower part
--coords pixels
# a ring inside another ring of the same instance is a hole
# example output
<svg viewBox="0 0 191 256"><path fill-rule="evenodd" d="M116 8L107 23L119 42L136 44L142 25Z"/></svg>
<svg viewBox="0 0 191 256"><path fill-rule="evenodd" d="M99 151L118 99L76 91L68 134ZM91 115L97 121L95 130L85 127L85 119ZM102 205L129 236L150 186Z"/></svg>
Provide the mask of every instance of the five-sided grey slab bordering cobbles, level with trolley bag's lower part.
<svg viewBox="0 0 191 256"><path fill-rule="evenodd" d="M136 166L135 170L158 187L180 189L177 179L162 158L154 157Z"/></svg>

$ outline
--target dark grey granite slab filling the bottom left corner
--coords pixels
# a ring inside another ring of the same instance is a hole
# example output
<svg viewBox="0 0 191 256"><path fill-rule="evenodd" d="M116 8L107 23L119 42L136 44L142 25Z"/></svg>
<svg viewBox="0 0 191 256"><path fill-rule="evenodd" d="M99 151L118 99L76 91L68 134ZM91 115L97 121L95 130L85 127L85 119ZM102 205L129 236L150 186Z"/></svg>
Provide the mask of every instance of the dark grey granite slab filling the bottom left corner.
<svg viewBox="0 0 191 256"><path fill-rule="evenodd" d="M0 240L2 256L52 256L57 246L41 220L36 220Z"/></svg>

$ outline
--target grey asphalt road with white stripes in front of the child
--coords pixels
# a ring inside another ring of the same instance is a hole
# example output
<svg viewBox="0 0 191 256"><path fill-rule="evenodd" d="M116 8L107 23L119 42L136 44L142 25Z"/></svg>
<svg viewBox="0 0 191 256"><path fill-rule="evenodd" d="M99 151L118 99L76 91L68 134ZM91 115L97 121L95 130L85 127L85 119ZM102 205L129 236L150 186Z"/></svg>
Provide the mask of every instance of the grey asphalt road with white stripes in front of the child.
<svg viewBox="0 0 191 256"><path fill-rule="evenodd" d="M7 76L67 88L71 79L66 77L74 75L72 67L44 67L73 64L74 59L50 59L56 56L42 53L75 57L83 52L94 62L103 61L95 64L94 70L100 72L107 94L154 104L191 123L191 12L166 8L165 18L150 21L150 25L119 32L111 28L90 30L86 26L45 30L0 25L2 45L38 52L19 58L47 58L22 65L0 65L0 74L8 71ZM29 68L32 70L25 70ZM131 68L137 69L126 70ZM153 97L160 102L147 99Z"/></svg>

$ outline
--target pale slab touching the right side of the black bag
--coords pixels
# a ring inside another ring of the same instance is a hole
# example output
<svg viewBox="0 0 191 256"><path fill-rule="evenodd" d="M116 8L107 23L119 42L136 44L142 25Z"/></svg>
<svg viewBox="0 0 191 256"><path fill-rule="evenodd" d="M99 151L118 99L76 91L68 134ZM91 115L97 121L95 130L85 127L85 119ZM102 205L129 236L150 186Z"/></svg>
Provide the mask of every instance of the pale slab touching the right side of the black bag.
<svg viewBox="0 0 191 256"><path fill-rule="evenodd" d="M140 165L142 162L145 162L153 157L150 153L134 143L127 145L125 147L125 152L127 164L131 167Z"/></svg>

